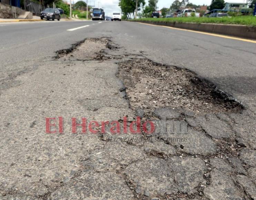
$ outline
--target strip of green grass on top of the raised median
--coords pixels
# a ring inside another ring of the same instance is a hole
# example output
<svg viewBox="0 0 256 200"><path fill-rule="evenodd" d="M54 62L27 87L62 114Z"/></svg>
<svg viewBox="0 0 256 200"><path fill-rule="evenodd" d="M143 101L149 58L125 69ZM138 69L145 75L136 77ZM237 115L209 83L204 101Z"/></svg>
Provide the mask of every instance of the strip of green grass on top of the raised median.
<svg viewBox="0 0 256 200"><path fill-rule="evenodd" d="M130 21L135 21L134 19ZM194 23L221 23L221 24L241 24L247 26L256 26L256 17L240 16L240 17L175 17L175 18L141 18L136 21L163 21L163 22L194 22Z"/></svg>

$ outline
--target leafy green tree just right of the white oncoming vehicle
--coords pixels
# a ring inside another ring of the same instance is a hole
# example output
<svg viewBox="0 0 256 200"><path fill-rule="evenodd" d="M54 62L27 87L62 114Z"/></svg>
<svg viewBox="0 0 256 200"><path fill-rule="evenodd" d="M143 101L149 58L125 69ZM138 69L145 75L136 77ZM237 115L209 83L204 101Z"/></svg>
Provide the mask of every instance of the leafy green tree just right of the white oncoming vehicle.
<svg viewBox="0 0 256 200"><path fill-rule="evenodd" d="M145 0L138 0L138 11L145 5ZM119 7L126 18L131 18L131 13L135 17L136 0L119 0Z"/></svg>

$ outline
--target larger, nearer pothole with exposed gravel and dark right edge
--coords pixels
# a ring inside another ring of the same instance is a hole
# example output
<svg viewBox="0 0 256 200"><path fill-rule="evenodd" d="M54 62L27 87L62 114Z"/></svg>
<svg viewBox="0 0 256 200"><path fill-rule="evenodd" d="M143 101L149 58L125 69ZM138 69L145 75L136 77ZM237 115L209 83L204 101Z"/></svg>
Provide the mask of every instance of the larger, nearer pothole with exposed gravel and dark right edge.
<svg viewBox="0 0 256 200"><path fill-rule="evenodd" d="M180 108L195 113L238 112L243 105L187 69L133 59L119 64L132 109Z"/></svg>

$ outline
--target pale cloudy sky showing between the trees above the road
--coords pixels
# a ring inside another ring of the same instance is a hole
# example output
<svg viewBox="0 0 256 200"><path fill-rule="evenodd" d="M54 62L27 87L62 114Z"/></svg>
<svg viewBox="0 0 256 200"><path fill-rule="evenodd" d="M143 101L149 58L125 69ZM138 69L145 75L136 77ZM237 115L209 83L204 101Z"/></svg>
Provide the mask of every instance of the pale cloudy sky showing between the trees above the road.
<svg viewBox="0 0 256 200"><path fill-rule="evenodd" d="M77 2L78 0L75 0ZM86 1L86 0L84 0ZM171 4L175 0L158 0L158 9L160 10L163 7L170 8ZM226 0L226 1L232 1L232 2L246 2L246 0ZM91 2L91 3L90 3ZM88 4L94 4L95 2L95 7L104 8L105 13L107 16L111 16L113 12L121 12L120 7L118 6L119 0L88 0ZM147 0L146 0L147 2ZM210 5L211 0L189 0L190 3L194 4L205 4L205 5Z"/></svg>

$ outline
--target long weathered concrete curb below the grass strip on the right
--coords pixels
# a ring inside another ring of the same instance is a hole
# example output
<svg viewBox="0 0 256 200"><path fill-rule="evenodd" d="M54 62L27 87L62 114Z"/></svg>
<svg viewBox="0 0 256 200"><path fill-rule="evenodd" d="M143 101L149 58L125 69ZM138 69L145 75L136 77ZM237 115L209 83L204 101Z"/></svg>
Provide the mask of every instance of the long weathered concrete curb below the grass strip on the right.
<svg viewBox="0 0 256 200"><path fill-rule="evenodd" d="M208 33L223 34L239 38L256 40L256 27L249 27L236 24L214 24L214 23L179 23L179 22L162 22L162 21L140 21L135 22L153 24L158 26L167 26L179 29L188 29Z"/></svg>

